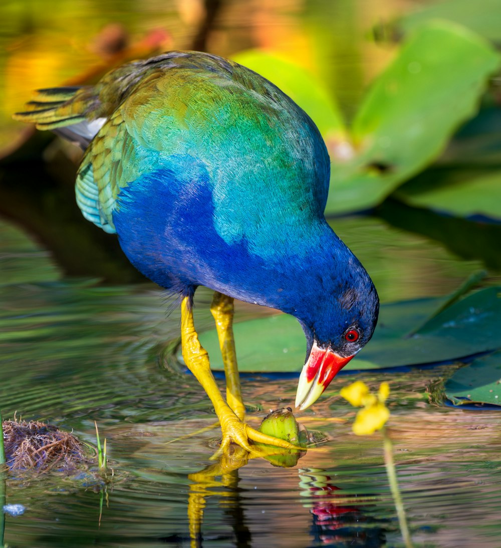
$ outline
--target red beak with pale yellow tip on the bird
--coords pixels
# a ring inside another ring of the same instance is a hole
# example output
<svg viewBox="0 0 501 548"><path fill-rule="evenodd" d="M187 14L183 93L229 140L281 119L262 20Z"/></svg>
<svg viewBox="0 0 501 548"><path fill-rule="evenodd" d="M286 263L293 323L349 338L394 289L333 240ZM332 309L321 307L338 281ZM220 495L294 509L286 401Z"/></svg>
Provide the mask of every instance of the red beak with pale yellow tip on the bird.
<svg viewBox="0 0 501 548"><path fill-rule="evenodd" d="M353 356L343 358L336 352L320 348L313 343L312 351L304 364L297 385L296 407L306 409L315 403L336 373L352 358Z"/></svg>

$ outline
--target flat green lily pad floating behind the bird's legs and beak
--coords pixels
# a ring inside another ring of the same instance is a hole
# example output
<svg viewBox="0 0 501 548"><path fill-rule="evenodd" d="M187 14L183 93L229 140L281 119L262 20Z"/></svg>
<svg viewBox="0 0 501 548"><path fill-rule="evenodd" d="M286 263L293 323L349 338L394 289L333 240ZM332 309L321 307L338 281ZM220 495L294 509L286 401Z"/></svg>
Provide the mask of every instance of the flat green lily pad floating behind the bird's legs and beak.
<svg viewBox="0 0 501 548"><path fill-rule="evenodd" d="M490 287L471 293L436 316L433 312L442 299L382 305L371 342L344 369L436 363L497 350L501 348L500 292L501 287ZM418 326L416 333L407 336ZM240 371L297 372L304 364L306 341L291 316L237 323L234 335ZM212 368L222 370L216 331L201 333L200 342L209 352Z"/></svg>

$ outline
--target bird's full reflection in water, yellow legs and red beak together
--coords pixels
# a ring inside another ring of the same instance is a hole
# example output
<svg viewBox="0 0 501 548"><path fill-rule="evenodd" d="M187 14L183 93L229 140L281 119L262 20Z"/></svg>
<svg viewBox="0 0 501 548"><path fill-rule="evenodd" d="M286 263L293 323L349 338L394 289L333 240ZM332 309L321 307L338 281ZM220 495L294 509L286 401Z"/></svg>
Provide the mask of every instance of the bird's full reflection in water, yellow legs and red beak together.
<svg viewBox="0 0 501 548"><path fill-rule="evenodd" d="M260 448L249 453L232 445L218 460L199 472L190 474L188 519L191 547L202 546L202 523L206 499L215 495L233 528L233 543L238 547L252 546L251 531L244 515L245 501L239 487L239 468L254 458L266 458L274 466L297 465L304 453L278 458L278 448ZM291 452L293 453L293 452ZM294 458L295 456L295 458ZM336 487L323 469L299 469L301 501L313 517L311 534L315 545L364 546L379 548L386 544L385 527L381 520L367 516L367 503L375 497L345 494Z"/></svg>

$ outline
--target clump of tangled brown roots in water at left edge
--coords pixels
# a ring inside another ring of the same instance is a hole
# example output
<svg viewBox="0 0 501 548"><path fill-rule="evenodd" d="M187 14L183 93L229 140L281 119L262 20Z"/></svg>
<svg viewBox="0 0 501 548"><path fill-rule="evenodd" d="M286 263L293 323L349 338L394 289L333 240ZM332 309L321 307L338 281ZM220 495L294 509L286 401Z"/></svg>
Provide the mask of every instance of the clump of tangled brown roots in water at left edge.
<svg viewBox="0 0 501 548"><path fill-rule="evenodd" d="M85 460L82 444L68 432L38 421L4 420L5 458L11 470L73 470Z"/></svg>

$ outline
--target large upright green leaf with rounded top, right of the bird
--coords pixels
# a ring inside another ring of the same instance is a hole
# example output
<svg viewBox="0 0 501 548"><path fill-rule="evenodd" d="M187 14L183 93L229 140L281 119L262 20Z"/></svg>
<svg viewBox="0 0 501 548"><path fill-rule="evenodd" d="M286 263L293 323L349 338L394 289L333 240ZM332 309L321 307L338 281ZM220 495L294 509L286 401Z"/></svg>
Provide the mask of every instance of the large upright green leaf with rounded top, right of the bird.
<svg viewBox="0 0 501 548"><path fill-rule="evenodd" d="M420 27L363 101L352 128L354 156L332 168L327 213L374 206L435 158L477 110L499 60L463 27Z"/></svg>

